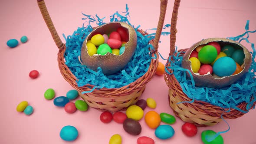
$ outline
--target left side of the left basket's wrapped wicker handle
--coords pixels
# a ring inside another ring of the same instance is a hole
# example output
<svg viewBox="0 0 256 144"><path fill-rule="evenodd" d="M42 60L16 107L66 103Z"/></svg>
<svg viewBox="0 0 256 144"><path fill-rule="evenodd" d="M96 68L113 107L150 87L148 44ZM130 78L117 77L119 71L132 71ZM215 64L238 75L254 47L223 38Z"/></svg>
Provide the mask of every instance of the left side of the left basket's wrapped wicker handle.
<svg viewBox="0 0 256 144"><path fill-rule="evenodd" d="M61 39L59 38L59 35L53 25L53 21L48 13L48 10L46 8L44 0L37 0L37 4L42 13L43 19L44 19L50 33L52 34L52 37L53 37L53 40L54 40L56 46L58 46L59 49L62 49L64 47L64 44L62 43Z"/></svg>

